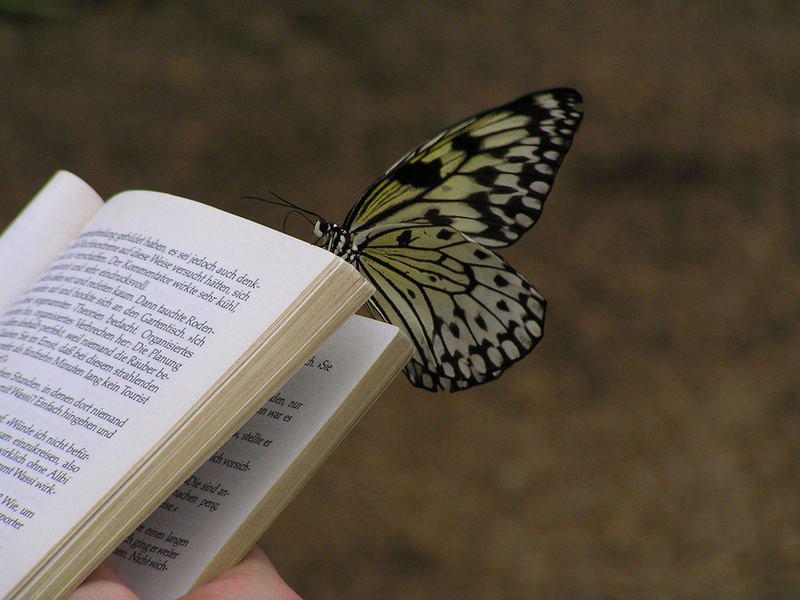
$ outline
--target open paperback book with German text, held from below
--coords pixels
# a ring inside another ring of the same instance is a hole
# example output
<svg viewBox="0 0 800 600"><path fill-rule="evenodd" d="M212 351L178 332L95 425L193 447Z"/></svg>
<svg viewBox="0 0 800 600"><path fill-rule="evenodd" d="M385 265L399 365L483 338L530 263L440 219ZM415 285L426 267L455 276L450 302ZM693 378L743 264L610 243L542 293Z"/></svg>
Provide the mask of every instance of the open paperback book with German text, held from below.
<svg viewBox="0 0 800 600"><path fill-rule="evenodd" d="M0 237L0 274L3 598L60 598L117 546L151 597L213 577L409 355L358 317L321 347L371 292L332 254L66 172Z"/></svg>

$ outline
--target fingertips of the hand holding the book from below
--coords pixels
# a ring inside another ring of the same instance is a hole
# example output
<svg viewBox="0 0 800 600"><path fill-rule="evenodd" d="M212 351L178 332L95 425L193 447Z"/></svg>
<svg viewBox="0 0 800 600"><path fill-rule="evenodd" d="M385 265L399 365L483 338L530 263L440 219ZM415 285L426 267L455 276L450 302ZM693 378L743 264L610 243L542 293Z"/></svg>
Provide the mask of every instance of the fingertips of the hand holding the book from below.
<svg viewBox="0 0 800 600"><path fill-rule="evenodd" d="M104 561L67 600L139 600ZM264 551L255 546L244 560L180 600L301 600L281 579Z"/></svg>

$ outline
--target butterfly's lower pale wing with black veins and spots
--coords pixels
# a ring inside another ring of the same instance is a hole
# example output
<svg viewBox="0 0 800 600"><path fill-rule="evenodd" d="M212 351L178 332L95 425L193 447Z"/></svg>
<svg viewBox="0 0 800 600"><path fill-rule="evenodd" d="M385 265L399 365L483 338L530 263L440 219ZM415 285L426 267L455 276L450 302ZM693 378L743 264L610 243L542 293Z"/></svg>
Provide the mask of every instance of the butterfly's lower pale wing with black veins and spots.
<svg viewBox="0 0 800 600"><path fill-rule="evenodd" d="M372 232L356 260L376 288L370 304L406 329L406 375L455 391L496 378L542 337L545 301L500 256L450 226Z"/></svg>

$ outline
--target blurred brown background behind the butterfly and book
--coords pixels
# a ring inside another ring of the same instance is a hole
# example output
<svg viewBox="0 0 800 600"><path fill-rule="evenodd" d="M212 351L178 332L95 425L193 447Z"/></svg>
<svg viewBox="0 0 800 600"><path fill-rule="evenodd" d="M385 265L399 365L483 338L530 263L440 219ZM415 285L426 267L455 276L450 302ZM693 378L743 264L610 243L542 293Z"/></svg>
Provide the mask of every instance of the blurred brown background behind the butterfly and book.
<svg viewBox="0 0 800 600"><path fill-rule="evenodd" d="M69 10L0 19L0 225L58 168L341 220L443 126L584 95L506 253L544 341L474 391L393 384L264 538L302 595L800 595L800 5L16 4Z"/></svg>

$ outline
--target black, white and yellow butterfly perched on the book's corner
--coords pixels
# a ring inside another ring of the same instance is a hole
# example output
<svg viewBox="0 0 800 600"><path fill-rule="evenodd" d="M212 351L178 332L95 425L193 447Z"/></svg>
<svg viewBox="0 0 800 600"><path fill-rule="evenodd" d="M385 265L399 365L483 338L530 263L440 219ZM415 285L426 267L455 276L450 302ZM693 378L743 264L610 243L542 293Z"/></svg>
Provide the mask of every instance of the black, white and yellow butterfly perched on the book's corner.
<svg viewBox="0 0 800 600"><path fill-rule="evenodd" d="M319 243L375 287L371 311L412 340L415 386L491 381L541 339L545 299L494 249L538 220L581 103L558 88L478 113L403 156L341 225L316 215Z"/></svg>

